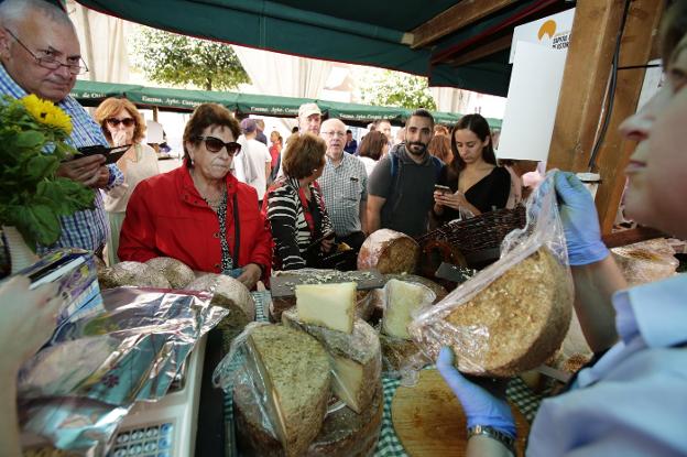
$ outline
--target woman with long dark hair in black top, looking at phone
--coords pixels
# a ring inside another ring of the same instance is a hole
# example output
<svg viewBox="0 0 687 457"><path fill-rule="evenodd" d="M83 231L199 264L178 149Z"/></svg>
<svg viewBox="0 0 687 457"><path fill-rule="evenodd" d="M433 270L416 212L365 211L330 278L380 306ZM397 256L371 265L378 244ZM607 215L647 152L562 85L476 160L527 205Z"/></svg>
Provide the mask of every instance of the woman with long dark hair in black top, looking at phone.
<svg viewBox="0 0 687 457"><path fill-rule="evenodd" d="M438 179L434 214L440 222L504 208L511 192L509 172L497 165L489 123L480 115L464 116L451 130L454 159Z"/></svg>

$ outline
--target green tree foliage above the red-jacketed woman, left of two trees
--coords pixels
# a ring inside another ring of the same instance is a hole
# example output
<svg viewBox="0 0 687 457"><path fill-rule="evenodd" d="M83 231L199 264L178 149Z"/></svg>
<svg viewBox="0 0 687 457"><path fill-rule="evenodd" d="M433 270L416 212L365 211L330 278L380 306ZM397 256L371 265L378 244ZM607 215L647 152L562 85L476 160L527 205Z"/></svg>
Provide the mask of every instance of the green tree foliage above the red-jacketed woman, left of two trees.
<svg viewBox="0 0 687 457"><path fill-rule="evenodd" d="M228 44L142 26L133 44L133 61L151 80L235 89L250 79Z"/></svg>

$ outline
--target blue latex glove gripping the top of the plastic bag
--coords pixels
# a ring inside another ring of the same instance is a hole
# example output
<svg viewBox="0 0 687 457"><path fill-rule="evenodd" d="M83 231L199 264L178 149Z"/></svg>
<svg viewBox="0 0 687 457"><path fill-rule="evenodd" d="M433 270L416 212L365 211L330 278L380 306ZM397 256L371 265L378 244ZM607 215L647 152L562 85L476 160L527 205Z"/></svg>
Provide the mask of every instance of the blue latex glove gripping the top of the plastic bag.
<svg viewBox="0 0 687 457"><path fill-rule="evenodd" d="M586 265L606 259L609 250L601 241L591 194L572 173L557 172L555 183L570 264Z"/></svg>

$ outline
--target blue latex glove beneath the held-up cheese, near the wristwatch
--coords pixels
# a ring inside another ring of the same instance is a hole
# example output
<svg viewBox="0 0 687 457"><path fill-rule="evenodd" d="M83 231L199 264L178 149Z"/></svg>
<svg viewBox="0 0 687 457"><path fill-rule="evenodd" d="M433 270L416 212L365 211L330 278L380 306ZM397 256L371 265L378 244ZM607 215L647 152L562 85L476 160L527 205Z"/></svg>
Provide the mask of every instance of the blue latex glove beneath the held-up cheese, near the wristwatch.
<svg viewBox="0 0 687 457"><path fill-rule="evenodd" d="M450 348L441 348L436 367L460 401L468 420L468 428L488 425L515 438L515 421L509 404L460 374L454 367L454 351Z"/></svg>

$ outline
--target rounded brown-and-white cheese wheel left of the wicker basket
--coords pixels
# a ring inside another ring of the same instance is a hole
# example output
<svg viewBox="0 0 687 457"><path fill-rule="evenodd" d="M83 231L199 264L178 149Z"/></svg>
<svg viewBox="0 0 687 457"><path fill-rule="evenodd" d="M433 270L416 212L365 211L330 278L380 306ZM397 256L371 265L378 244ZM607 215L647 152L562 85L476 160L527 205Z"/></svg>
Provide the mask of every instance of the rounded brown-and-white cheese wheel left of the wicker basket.
<svg viewBox="0 0 687 457"><path fill-rule="evenodd" d="M371 233L358 252L358 270L380 273L412 273L419 257L419 244L405 233L380 229Z"/></svg>

